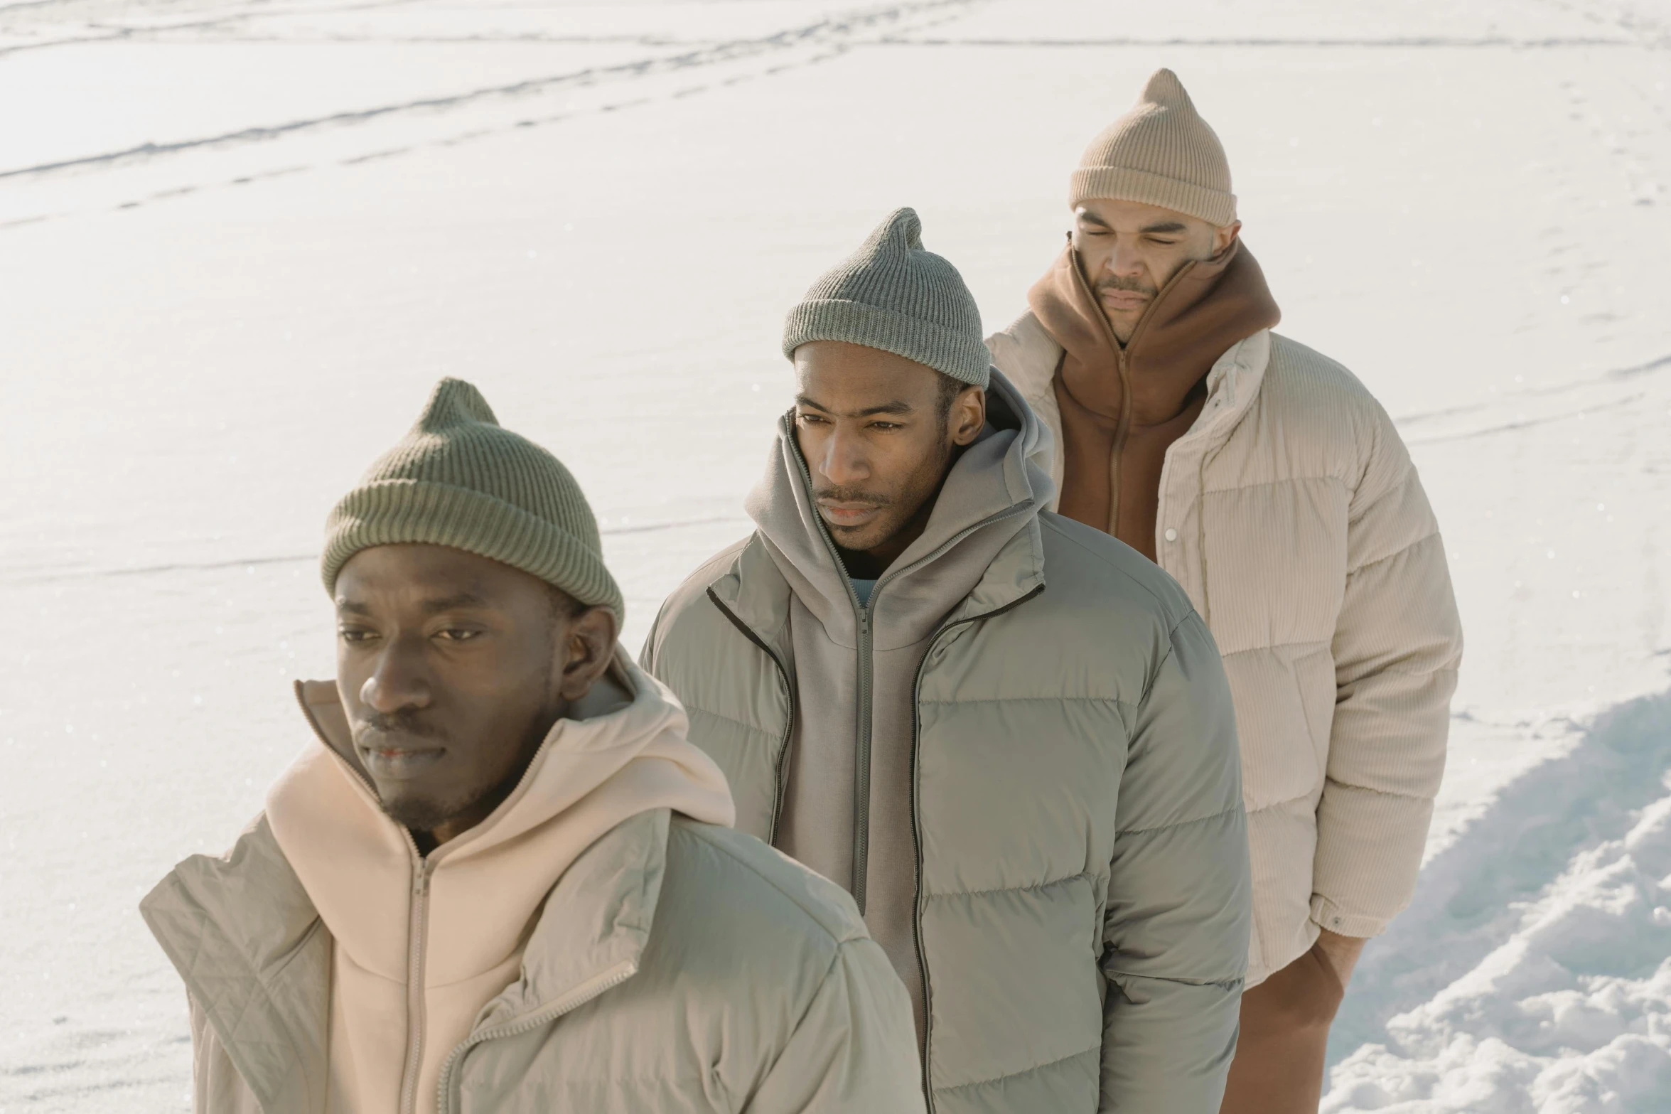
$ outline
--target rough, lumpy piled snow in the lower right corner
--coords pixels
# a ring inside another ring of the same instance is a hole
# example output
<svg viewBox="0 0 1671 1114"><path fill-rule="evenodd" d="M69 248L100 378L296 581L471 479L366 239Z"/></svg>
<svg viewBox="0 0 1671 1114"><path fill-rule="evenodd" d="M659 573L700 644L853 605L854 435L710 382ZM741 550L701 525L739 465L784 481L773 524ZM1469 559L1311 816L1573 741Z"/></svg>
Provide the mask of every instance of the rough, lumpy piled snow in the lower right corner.
<svg viewBox="0 0 1671 1114"><path fill-rule="evenodd" d="M1514 822L1464 837L1472 870L1452 865L1462 885L1429 929L1472 920L1469 875L1526 889L1551 850L1571 855L1474 925L1489 950L1472 969L1333 1069L1323 1114L1671 1109L1671 698L1616 710L1519 798Z"/></svg>

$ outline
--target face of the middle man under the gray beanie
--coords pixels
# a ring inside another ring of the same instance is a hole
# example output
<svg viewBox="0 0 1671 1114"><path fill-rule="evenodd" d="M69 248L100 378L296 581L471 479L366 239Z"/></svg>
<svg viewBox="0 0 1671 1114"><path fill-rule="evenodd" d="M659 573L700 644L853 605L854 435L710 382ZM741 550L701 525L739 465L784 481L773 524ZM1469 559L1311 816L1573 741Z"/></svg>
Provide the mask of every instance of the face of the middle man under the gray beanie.
<svg viewBox="0 0 1671 1114"><path fill-rule="evenodd" d="M891 561L922 533L954 448L986 424L986 392L842 341L797 347L795 379L795 441L819 516L842 549Z"/></svg>

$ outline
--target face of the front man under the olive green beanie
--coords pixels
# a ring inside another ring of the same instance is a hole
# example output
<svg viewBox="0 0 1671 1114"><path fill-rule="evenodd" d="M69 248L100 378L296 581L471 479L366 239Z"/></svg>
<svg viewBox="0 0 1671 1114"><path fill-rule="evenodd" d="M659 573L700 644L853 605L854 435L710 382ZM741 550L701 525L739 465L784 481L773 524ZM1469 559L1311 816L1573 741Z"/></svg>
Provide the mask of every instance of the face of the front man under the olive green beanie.
<svg viewBox="0 0 1671 1114"><path fill-rule="evenodd" d="M361 549L336 581L336 680L384 812L436 843L510 795L608 666L615 616L461 549Z"/></svg>

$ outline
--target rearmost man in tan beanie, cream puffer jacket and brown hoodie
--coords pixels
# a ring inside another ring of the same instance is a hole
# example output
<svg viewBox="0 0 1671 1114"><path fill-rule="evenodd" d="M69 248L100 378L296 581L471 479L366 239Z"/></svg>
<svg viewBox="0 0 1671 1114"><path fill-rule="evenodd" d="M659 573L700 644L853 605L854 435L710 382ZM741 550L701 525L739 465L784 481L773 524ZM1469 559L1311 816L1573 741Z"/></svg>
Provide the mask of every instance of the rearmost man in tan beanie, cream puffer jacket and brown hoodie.
<svg viewBox="0 0 1671 1114"><path fill-rule="evenodd" d="M1227 1112L1315 1111L1365 937L1415 885L1462 633L1385 411L1272 332L1230 165L1171 70L1091 140L1073 232L988 337L1056 434L1059 511L1173 575L1225 655L1253 858Z"/></svg>

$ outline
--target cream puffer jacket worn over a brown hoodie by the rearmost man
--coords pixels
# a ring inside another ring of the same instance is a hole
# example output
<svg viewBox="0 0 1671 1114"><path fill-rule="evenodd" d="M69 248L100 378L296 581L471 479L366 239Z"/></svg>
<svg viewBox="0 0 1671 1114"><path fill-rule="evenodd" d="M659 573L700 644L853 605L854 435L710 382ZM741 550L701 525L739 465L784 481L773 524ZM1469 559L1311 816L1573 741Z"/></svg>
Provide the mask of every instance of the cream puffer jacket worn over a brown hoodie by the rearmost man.
<svg viewBox="0 0 1671 1114"><path fill-rule="evenodd" d="M1059 443L1063 349L1031 312L988 347ZM1235 695L1253 985L1320 927L1377 935L1409 904L1462 630L1415 466L1345 367L1262 329L1213 364L1206 391L1166 449L1155 551ZM1051 473L1059 483L1059 453Z"/></svg>

